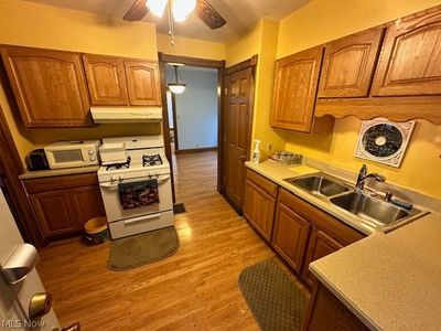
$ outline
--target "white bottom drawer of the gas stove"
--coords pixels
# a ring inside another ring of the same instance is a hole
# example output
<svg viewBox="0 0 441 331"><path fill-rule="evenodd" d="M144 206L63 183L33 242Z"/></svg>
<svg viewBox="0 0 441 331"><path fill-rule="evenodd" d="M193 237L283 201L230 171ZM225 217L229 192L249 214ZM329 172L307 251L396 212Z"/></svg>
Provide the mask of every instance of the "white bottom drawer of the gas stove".
<svg viewBox="0 0 441 331"><path fill-rule="evenodd" d="M131 220L111 222L109 223L109 229L111 238L118 239L133 234L149 232L162 225L173 225L173 212L150 214Z"/></svg>

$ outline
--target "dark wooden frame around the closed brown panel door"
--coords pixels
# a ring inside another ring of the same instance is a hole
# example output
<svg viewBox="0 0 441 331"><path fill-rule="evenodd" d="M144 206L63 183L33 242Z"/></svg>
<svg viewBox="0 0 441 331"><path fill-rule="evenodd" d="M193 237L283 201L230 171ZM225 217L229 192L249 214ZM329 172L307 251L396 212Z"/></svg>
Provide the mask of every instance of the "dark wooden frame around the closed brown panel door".
<svg viewBox="0 0 441 331"><path fill-rule="evenodd" d="M227 103L226 103L226 97L227 97L227 89L226 89L226 79L227 76L234 73L237 73L239 71L246 70L246 68L251 68L251 84L250 84L250 90L249 90L249 122L247 126L247 132L246 132L246 161L249 161L251 158L251 138L252 138L252 122L254 122L254 115L255 115L255 90L256 90L256 68L257 68L257 64L258 64L258 55L255 54L251 57L239 62L237 64L234 64L227 68L225 68L225 75L224 75L224 92L223 92L223 96L224 96L224 103L223 103L223 132L226 132L227 128L227 121L224 118L226 115L226 107L227 107ZM223 146L225 146L225 139L226 136L223 135ZM226 167L227 164L227 160L225 159L226 153L223 154L222 158L222 162L218 163L218 168L220 168L220 173L224 173L224 167ZM245 167L245 164L244 164ZM244 182L245 185L245 182ZM228 200L226 193L225 193L225 178L222 178L222 182L220 182L220 188L218 189L218 191L220 192L220 194L225 197L225 200L232 205L232 207L239 214L241 215L241 209L243 206L239 207L239 210L236 209L236 206Z"/></svg>

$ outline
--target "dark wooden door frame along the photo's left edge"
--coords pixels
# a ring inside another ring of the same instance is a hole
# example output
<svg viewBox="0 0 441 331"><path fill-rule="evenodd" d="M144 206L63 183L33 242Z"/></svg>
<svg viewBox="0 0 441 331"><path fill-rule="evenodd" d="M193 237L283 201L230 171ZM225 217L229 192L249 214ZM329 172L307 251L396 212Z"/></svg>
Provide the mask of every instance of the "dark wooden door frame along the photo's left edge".
<svg viewBox="0 0 441 331"><path fill-rule="evenodd" d="M12 89L6 78L3 68L0 68L0 82L4 87L8 104L12 108L14 114L18 114L17 103L12 96ZM19 179L19 175L24 173L24 167L20 158L19 151L17 150L15 142L13 140L11 130L7 118L3 113L3 108L0 105L0 153L8 156L7 158L0 158L0 171L3 173L7 182L4 188L9 197L10 209L14 215L15 223L20 229L23 239L35 247L42 247L46 245L46 241L37 225L34 212L28 199L28 194L24 191L24 186Z"/></svg>

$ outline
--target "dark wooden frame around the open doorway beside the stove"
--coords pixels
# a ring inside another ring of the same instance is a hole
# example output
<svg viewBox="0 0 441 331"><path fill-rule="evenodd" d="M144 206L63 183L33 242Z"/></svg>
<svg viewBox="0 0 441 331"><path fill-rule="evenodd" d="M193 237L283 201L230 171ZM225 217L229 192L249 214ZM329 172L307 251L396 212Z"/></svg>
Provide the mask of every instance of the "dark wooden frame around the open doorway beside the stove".
<svg viewBox="0 0 441 331"><path fill-rule="evenodd" d="M222 169L222 160L224 158L224 84L225 84L225 61L220 60L207 60L207 58L197 58L197 57L189 57L181 55L171 55L164 54L162 52L158 53L159 58L159 68L161 75L161 94L162 94L162 129L164 132L169 130L169 115L166 105L166 77L165 77L165 64L166 63L182 63L189 66L198 66L198 67L211 67L217 70L217 191L222 191L222 179L223 179L223 169ZM176 132L175 132L176 135ZM178 135L176 135L178 136ZM175 137L176 139L176 137ZM164 143L165 143L165 156L169 159L171 164L171 178L172 178L172 194L173 202L175 202L175 190L174 190L174 177L173 177L173 159L171 152L171 142L170 135L164 135Z"/></svg>

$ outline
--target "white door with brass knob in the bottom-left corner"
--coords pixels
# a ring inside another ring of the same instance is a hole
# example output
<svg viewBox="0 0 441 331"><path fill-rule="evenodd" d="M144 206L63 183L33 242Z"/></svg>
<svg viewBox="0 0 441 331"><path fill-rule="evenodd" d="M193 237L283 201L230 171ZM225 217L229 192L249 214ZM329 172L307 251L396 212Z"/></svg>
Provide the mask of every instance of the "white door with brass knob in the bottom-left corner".
<svg viewBox="0 0 441 331"><path fill-rule="evenodd" d="M0 267L4 265L14 249L23 244L23 238L17 227L11 210L0 189ZM31 297L44 292L35 268L15 285L10 285L0 275L0 330L39 330L53 331L60 328L56 316L51 311L40 321L31 323L28 320L28 309Z"/></svg>

